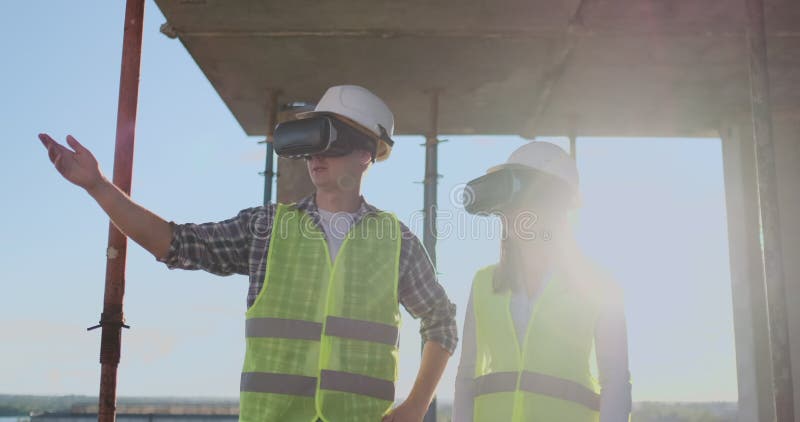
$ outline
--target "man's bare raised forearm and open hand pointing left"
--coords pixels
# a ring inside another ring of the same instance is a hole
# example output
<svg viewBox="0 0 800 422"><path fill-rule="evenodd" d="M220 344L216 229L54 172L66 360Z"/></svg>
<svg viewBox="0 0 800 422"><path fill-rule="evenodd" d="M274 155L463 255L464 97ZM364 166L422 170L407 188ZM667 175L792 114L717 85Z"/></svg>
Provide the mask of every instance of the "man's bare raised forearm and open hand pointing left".
<svg viewBox="0 0 800 422"><path fill-rule="evenodd" d="M133 202L106 179L94 155L77 139L67 136L67 143L74 151L47 134L40 134L39 140L47 148L56 170L68 181L84 188L121 232L156 258L166 257L172 239L172 228L167 221Z"/></svg>

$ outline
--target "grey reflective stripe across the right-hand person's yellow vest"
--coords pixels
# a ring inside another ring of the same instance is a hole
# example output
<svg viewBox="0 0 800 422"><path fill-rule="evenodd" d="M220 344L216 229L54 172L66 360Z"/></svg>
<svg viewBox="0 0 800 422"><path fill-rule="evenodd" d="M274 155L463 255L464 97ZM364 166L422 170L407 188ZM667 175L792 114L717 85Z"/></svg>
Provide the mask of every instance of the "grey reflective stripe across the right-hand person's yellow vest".
<svg viewBox="0 0 800 422"><path fill-rule="evenodd" d="M519 389L529 393L541 394L561 400L579 403L592 410L600 410L600 395L583 385L535 372L494 372L478 377L474 381L475 396L493 393L509 393L517 389L519 376Z"/></svg>

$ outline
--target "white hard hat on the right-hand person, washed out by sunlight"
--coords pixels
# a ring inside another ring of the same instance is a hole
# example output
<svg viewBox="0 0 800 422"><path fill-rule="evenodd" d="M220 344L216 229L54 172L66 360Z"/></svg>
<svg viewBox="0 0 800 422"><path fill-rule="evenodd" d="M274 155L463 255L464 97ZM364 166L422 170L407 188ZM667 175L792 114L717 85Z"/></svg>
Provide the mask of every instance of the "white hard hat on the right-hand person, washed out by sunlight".
<svg viewBox="0 0 800 422"><path fill-rule="evenodd" d="M517 148L508 160L490 168L487 173L503 168L527 167L558 177L578 191L578 167L561 147L549 142L531 141Z"/></svg>

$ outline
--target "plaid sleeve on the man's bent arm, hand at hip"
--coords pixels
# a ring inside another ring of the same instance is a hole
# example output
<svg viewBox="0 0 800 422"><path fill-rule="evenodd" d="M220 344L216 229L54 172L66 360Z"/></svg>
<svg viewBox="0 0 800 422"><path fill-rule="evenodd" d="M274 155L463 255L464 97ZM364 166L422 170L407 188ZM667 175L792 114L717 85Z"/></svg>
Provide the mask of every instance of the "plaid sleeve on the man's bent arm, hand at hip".
<svg viewBox="0 0 800 422"><path fill-rule="evenodd" d="M400 303L414 318L420 318L423 342L435 341L450 354L458 344L456 305L450 302L444 288L436 279L425 247L404 224L400 249Z"/></svg>

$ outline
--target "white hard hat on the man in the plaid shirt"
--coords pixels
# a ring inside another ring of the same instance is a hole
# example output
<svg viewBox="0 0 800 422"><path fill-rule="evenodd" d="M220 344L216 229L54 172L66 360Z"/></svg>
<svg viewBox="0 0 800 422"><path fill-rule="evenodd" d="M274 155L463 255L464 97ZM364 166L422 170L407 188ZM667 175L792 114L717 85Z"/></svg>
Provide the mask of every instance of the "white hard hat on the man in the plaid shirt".
<svg viewBox="0 0 800 422"><path fill-rule="evenodd" d="M389 158L394 134L394 114L386 103L366 88L356 85L332 86L314 107L314 111L298 113L298 118L332 114L361 129L378 142L376 161Z"/></svg>

